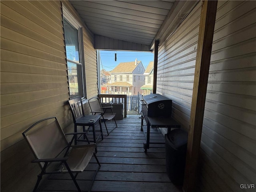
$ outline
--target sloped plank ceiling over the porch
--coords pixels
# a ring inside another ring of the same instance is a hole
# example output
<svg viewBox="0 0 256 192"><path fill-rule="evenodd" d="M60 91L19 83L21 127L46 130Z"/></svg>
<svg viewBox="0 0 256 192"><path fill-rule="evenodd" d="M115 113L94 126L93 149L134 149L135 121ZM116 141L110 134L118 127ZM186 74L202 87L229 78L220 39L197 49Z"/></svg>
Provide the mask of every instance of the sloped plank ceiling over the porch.
<svg viewBox="0 0 256 192"><path fill-rule="evenodd" d="M95 34L150 46L174 4L172 1L70 1Z"/></svg>

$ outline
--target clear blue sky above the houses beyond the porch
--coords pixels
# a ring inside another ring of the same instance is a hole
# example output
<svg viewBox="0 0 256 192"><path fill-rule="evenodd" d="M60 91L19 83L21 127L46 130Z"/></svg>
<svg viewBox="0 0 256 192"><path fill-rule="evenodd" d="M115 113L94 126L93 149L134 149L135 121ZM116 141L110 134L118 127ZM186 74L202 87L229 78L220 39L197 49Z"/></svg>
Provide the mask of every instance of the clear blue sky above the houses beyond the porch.
<svg viewBox="0 0 256 192"><path fill-rule="evenodd" d="M117 60L115 61L115 53ZM100 70L102 67L106 71L113 70L121 62L131 62L137 58L141 61L144 68L148 66L150 61L154 60L152 52L134 52L134 51L103 51L100 50Z"/></svg>

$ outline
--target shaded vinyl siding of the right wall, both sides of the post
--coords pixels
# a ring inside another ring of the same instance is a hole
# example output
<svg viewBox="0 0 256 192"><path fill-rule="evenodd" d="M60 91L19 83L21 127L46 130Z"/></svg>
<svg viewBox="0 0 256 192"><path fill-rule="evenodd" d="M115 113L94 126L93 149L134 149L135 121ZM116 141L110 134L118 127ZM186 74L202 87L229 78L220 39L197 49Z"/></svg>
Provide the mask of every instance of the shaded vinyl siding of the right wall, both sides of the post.
<svg viewBox="0 0 256 192"><path fill-rule="evenodd" d="M201 4L201 3L200 3ZM159 50L157 92L188 130L200 4ZM256 178L256 4L218 1L198 191L240 191ZM249 190L250 191L250 190Z"/></svg>

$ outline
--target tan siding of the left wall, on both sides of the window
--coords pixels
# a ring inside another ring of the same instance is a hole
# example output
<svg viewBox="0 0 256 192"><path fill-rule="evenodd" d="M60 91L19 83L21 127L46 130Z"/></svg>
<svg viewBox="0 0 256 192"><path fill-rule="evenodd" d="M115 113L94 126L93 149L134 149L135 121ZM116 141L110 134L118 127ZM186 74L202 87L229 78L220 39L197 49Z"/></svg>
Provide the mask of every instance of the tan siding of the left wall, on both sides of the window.
<svg viewBox="0 0 256 192"><path fill-rule="evenodd" d="M64 2L80 21L69 2ZM39 173L22 132L56 116L73 130L60 1L1 1L1 191L32 191ZM87 96L98 94L94 36L83 25ZM86 112L88 109L86 108ZM25 176L26 175L26 176Z"/></svg>

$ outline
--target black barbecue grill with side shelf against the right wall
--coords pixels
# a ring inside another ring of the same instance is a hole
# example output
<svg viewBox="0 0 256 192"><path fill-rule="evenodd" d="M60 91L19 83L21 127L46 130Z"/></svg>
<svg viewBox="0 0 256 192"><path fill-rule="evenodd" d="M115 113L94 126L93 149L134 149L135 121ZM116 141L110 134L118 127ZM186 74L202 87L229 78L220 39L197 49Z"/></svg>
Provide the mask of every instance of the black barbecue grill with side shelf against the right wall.
<svg viewBox="0 0 256 192"><path fill-rule="evenodd" d="M172 100L160 94L149 94L141 100L141 131L143 131L143 120L147 123L146 143L144 152L149 148L150 126L153 128L180 128L180 125L171 118Z"/></svg>

